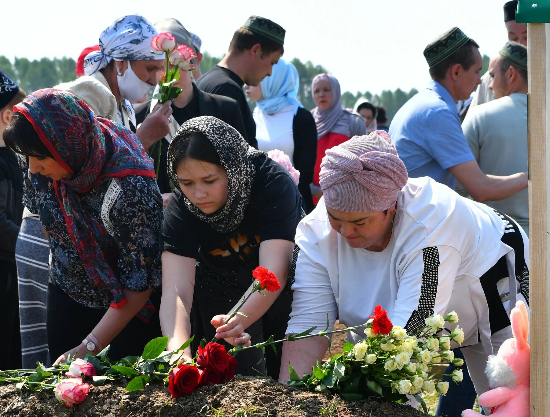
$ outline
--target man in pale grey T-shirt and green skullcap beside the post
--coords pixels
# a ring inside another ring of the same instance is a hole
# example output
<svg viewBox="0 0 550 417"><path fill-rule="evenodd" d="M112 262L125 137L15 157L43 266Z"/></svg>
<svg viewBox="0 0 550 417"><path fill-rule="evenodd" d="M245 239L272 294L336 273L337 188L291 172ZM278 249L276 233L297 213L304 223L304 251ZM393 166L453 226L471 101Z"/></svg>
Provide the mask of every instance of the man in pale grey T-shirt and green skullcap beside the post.
<svg viewBox="0 0 550 417"><path fill-rule="evenodd" d="M527 47L508 41L488 72L496 100L470 109L462 124L464 136L485 174L527 171ZM529 235L527 189L486 204L515 219Z"/></svg>

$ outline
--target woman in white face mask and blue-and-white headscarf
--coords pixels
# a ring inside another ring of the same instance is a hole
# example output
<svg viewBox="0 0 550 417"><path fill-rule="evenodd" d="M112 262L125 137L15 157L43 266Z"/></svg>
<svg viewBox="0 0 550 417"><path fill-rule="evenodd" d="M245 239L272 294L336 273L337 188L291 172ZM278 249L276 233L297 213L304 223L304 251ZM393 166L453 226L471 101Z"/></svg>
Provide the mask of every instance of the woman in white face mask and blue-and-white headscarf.
<svg viewBox="0 0 550 417"><path fill-rule="evenodd" d="M101 82L113 96L119 120L115 115L101 116L119 121L135 132L145 149L168 133L168 117L172 114L170 102L166 102L136 131L131 102L142 99L157 85L165 59L163 53L151 53L151 40L155 35L158 35L157 30L144 17L139 14L124 16L101 33L100 50L90 52L84 59L85 74ZM76 80L79 82L86 82L86 78Z"/></svg>

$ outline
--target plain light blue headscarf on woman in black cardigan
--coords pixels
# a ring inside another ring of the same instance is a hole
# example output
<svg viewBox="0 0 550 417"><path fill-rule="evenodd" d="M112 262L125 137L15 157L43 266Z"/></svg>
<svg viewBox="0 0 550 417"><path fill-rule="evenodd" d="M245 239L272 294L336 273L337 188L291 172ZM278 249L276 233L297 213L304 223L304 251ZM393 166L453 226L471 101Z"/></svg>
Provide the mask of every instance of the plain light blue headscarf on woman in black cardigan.
<svg viewBox="0 0 550 417"><path fill-rule="evenodd" d="M296 114L298 107L304 107L297 98L300 86L298 71L292 63L284 59L279 59L273 66L271 77L264 78L260 86L263 100L256 104L268 115L274 115L287 106L293 106Z"/></svg>

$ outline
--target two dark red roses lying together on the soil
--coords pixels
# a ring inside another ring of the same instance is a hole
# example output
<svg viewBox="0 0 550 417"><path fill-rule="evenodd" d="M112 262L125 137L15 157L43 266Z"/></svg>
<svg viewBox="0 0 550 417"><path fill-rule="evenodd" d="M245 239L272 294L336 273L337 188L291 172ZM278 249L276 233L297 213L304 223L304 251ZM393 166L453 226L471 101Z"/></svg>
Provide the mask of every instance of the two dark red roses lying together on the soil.
<svg viewBox="0 0 550 417"><path fill-rule="evenodd" d="M227 382L235 375L237 360L226 352L225 346L207 343L199 346L196 365L180 364L168 375L168 389L172 397L191 394L196 388Z"/></svg>

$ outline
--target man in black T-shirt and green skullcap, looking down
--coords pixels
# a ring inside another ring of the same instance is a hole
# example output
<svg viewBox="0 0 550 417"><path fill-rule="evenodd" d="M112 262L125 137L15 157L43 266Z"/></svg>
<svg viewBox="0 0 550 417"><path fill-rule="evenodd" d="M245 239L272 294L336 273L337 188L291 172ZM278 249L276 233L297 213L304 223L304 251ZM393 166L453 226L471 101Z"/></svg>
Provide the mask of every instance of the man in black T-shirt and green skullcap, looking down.
<svg viewBox="0 0 550 417"><path fill-rule="evenodd" d="M229 51L217 66L197 81L206 93L230 97L239 103L249 143L256 142L256 123L243 85L260 85L284 52L285 30L277 23L251 16L233 35Z"/></svg>

